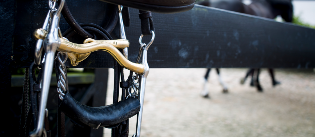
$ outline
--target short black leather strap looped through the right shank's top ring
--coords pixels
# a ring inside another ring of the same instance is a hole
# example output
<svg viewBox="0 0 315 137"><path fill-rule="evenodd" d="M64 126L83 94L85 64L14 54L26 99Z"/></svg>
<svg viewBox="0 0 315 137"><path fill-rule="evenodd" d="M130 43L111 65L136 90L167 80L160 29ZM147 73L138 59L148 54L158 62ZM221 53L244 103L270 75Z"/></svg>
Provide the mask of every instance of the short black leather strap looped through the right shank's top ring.
<svg viewBox="0 0 315 137"><path fill-rule="evenodd" d="M141 20L142 34L144 36L152 35L151 30L154 31L154 25L151 12L139 10L139 18Z"/></svg>

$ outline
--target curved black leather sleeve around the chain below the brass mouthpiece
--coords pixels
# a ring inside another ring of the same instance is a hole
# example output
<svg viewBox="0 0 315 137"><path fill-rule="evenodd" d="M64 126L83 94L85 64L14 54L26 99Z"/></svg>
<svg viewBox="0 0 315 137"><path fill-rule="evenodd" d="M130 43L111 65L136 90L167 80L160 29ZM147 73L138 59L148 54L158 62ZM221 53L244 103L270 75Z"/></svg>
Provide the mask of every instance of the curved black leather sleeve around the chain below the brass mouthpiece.
<svg viewBox="0 0 315 137"><path fill-rule="evenodd" d="M125 121L140 111L140 102L134 97L129 97L111 105L102 107L89 107L74 100L67 92L59 108L72 120L88 125L89 127L109 126Z"/></svg>

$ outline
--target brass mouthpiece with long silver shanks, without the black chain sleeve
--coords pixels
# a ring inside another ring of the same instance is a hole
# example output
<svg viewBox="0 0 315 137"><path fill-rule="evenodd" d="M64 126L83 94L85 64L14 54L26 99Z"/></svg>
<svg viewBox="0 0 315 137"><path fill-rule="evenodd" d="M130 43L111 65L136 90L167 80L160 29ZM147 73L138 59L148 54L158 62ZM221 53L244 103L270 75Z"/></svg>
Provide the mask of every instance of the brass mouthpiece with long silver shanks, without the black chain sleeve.
<svg viewBox="0 0 315 137"><path fill-rule="evenodd" d="M119 9L119 18L120 18L120 35L122 39L118 40L94 40L94 39L86 39L83 44L76 44L68 41L66 38L62 37L61 31L59 29L59 21L60 21L60 13L64 6L65 0L60 0L59 8L55 9L56 2L54 0L49 1L49 12L45 19L44 25L42 29L37 29L34 31L33 35L35 39L37 39L36 50L35 50L35 64L39 65L41 62L41 54L43 48L45 49L45 56L43 59L43 80L41 81L41 99L39 105L39 113L37 119L37 127L33 132L30 132L31 137L39 137L42 133L45 135L46 131L43 129L44 117L45 117L45 109L48 99L49 86L51 81L51 74L53 70L53 62L55 59L55 52L59 51L58 56L62 53L66 54L69 57L71 64L76 66L79 62L83 61L85 58L89 56L91 52L97 50L104 50L110 53L114 59L124 68L133 71L136 73L136 76L139 76L139 88L138 88L138 100L140 102L140 111L137 114L137 127L136 133L133 137L140 136L140 128L141 128L141 118L142 118L142 110L143 110L143 102L144 102L144 93L146 86L146 78L149 74L149 66L147 63L147 50L152 44L154 40L154 31L152 31L152 39L148 44L142 43L141 34L139 38L139 55L137 61L131 62L128 60L128 47L129 41L126 39L124 28L122 24L122 16L121 10L122 6L118 5ZM43 46L42 46L43 45ZM118 50L122 49L123 54ZM66 58L67 58L66 57ZM66 60L65 60L66 61ZM64 61L64 62L65 62ZM63 63L64 63L63 62ZM140 62L140 64L139 64ZM62 72L61 72L62 73ZM65 78L64 74L61 75L62 78ZM60 85L59 85L60 86ZM64 88L65 85L63 85ZM59 90L58 90L59 91ZM129 91L129 90L128 90ZM130 98L129 93L129 98ZM59 91L60 99L64 99L65 93ZM99 124L98 127L100 127Z"/></svg>

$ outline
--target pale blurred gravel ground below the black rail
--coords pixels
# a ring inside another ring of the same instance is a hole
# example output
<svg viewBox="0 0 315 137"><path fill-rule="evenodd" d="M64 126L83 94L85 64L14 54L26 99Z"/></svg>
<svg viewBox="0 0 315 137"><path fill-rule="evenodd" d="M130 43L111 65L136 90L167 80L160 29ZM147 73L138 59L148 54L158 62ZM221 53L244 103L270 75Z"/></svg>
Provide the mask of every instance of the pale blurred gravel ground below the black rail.
<svg viewBox="0 0 315 137"><path fill-rule="evenodd" d="M247 69L221 69L229 93L222 93L213 69L210 98L199 95L206 69L150 69L142 117L141 137L315 137L315 73L275 70L280 85L272 87L266 69L257 92ZM112 103L113 69L109 70L106 105ZM125 71L128 76L128 71ZM135 133L130 119L129 136ZM105 130L110 137L111 130Z"/></svg>

